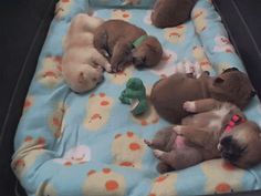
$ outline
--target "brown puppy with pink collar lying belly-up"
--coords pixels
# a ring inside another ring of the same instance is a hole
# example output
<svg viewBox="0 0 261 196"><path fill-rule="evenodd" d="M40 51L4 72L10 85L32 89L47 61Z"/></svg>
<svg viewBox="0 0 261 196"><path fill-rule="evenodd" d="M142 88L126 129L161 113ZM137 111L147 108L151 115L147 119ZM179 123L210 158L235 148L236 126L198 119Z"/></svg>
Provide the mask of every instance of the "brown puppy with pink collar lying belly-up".
<svg viewBox="0 0 261 196"><path fill-rule="evenodd" d="M212 99L185 102L184 107L195 114L159 131L153 141L145 140L160 159L160 173L218 157L241 168L261 162L261 130L239 107Z"/></svg>

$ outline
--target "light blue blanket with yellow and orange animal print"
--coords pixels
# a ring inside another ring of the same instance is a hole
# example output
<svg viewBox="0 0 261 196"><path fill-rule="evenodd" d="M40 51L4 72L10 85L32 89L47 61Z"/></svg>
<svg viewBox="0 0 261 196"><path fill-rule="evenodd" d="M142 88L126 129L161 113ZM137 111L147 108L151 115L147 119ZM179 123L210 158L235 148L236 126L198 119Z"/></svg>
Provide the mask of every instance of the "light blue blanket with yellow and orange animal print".
<svg viewBox="0 0 261 196"><path fill-rule="evenodd" d="M182 60L198 61L211 74L230 66L244 71L211 1L199 0L190 21L167 29L152 25L150 10L101 4L92 9L97 17L144 28L158 38L164 56L152 70L129 66L117 74L105 73L101 85L80 95L70 91L61 75L62 40L72 18L90 10L88 2L60 0L28 92L12 161L28 195L184 196L261 188L261 166L243 171L221 159L159 175L158 161L143 140L168 123L152 105L134 117L129 106L118 101L129 78L143 79L149 92ZM261 124L257 97L246 113Z"/></svg>

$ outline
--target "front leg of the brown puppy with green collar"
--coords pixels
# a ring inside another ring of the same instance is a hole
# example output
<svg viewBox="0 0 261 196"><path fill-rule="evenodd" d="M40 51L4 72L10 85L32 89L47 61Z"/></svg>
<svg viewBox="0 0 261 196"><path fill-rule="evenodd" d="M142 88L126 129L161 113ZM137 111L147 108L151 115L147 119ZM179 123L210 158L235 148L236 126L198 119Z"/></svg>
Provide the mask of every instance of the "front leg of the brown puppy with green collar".
<svg viewBox="0 0 261 196"><path fill-rule="evenodd" d="M114 45L111 64L113 72L123 70L123 66L132 61L132 45L118 40Z"/></svg>

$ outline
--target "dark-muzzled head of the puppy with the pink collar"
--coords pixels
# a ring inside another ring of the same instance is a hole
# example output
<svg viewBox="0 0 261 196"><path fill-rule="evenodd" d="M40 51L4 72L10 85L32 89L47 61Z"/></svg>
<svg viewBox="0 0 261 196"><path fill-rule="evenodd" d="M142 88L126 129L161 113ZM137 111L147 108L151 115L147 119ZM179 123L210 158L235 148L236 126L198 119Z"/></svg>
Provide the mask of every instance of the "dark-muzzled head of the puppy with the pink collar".
<svg viewBox="0 0 261 196"><path fill-rule="evenodd" d="M261 163L261 130L253 122L244 122L225 132L218 148L221 157L241 167L249 168Z"/></svg>

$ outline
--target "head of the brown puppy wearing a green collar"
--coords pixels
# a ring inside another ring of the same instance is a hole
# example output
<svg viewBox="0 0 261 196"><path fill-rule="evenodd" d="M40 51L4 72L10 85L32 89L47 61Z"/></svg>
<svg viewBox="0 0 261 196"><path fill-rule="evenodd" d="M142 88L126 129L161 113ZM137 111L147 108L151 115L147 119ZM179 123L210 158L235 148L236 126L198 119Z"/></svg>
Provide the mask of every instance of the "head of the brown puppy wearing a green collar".
<svg viewBox="0 0 261 196"><path fill-rule="evenodd" d="M155 37L146 38L140 45L133 50L133 63L138 68L150 68L159 63L163 48Z"/></svg>

